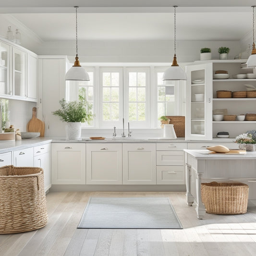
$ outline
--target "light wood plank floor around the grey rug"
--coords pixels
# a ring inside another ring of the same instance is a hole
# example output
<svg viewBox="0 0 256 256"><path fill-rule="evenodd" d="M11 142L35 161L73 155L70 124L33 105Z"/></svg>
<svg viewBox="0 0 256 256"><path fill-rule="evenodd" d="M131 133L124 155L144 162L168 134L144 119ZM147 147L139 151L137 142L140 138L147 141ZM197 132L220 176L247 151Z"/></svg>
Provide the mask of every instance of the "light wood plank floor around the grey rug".
<svg viewBox="0 0 256 256"><path fill-rule="evenodd" d="M182 230L76 229L89 196L169 197ZM241 215L196 218L184 192L50 192L48 224L0 235L0 256L249 256L256 255L256 201Z"/></svg>

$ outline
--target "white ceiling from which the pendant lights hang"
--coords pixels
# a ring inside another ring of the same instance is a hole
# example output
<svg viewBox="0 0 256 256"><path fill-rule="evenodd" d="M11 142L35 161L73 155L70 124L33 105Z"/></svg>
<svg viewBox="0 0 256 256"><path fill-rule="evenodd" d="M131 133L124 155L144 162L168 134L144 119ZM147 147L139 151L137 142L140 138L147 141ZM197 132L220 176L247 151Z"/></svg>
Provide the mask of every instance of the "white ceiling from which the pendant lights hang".
<svg viewBox="0 0 256 256"><path fill-rule="evenodd" d="M78 5L79 40L172 40L173 5L177 41L237 41L252 34L255 0L12 0L0 2L43 41L74 40Z"/></svg>

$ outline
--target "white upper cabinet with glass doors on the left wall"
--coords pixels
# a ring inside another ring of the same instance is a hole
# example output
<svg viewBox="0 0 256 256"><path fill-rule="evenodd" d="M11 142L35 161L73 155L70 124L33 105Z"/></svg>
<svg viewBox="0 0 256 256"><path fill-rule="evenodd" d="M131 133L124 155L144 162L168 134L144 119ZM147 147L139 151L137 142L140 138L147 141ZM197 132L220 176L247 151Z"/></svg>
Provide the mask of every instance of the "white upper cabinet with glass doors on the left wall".
<svg viewBox="0 0 256 256"><path fill-rule="evenodd" d="M37 102L37 55L0 38L0 97Z"/></svg>

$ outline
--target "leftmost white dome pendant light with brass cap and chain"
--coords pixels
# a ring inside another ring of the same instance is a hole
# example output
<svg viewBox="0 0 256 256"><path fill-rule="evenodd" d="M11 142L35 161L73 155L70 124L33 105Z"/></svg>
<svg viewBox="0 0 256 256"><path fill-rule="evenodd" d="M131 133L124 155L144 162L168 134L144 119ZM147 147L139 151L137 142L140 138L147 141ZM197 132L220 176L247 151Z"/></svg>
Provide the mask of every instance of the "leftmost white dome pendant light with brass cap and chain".
<svg viewBox="0 0 256 256"><path fill-rule="evenodd" d="M74 6L74 8L75 8L76 57L75 57L74 65L66 73L65 80L90 81L88 73L85 71L85 68L83 68L78 61L78 54L77 54L77 8L78 6Z"/></svg>

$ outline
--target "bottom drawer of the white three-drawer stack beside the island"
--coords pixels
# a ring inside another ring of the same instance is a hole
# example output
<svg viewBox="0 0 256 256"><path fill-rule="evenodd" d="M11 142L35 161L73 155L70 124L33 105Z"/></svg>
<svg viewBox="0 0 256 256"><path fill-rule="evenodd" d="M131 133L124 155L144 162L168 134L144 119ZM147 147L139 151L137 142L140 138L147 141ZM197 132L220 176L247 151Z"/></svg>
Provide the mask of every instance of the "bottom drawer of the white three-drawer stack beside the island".
<svg viewBox="0 0 256 256"><path fill-rule="evenodd" d="M157 166L157 184L184 184L184 167Z"/></svg>

